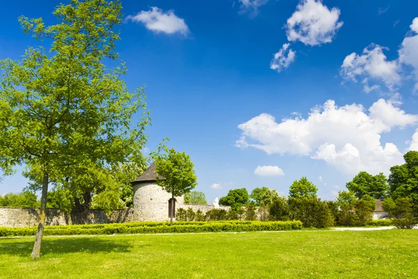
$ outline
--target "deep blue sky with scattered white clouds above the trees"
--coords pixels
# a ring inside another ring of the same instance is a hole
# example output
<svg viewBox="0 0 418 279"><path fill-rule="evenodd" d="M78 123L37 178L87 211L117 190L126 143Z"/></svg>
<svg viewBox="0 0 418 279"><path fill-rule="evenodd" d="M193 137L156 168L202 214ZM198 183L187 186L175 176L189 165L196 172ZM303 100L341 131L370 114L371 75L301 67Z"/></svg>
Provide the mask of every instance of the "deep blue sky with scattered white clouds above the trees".
<svg viewBox="0 0 418 279"><path fill-rule="evenodd" d="M0 10L0 59L38 41L17 17L57 1ZM359 170L389 171L418 150L418 2L127 1L117 50L130 90L146 84L147 148L169 137L212 202L307 176L334 199ZM275 59L274 59L274 54ZM16 174L0 193L19 192Z"/></svg>

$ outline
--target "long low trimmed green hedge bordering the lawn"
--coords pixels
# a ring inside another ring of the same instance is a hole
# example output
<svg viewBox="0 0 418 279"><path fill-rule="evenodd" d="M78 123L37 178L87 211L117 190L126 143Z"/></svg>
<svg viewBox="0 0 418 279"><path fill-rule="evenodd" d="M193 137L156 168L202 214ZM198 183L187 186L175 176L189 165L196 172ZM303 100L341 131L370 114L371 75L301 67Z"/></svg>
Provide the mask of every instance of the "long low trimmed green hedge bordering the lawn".
<svg viewBox="0 0 418 279"><path fill-rule="evenodd" d="M78 234L162 234L187 232L251 232L302 229L300 221L217 221L169 223L112 223L100 225L59 225L45 227L44 235ZM34 236L36 227L0 227L0 236Z"/></svg>

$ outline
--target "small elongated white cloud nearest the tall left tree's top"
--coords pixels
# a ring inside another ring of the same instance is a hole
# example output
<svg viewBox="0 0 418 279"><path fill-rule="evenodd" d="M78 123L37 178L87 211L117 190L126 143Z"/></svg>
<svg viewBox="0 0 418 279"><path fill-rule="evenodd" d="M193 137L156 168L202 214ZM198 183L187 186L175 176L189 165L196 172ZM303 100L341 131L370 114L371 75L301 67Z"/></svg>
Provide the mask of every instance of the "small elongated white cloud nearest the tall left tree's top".
<svg viewBox="0 0 418 279"><path fill-rule="evenodd" d="M151 10L142 10L137 15L128 15L126 20L132 22L141 22L145 27L157 33L181 33L187 35L189 27L185 24L183 18L177 17L173 10L164 13L160 8L152 7Z"/></svg>

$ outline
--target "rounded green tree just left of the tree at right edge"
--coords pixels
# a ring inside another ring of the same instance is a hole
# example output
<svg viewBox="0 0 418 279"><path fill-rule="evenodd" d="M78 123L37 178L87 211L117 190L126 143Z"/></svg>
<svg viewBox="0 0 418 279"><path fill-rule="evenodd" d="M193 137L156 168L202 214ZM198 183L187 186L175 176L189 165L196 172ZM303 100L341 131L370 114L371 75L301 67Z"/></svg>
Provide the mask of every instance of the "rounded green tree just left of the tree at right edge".
<svg viewBox="0 0 418 279"><path fill-rule="evenodd" d="M353 181L346 184L350 192L355 193L357 199L363 199L364 195L369 195L373 199L385 199L389 190L385 174L380 172L375 176L367 172L359 172Z"/></svg>

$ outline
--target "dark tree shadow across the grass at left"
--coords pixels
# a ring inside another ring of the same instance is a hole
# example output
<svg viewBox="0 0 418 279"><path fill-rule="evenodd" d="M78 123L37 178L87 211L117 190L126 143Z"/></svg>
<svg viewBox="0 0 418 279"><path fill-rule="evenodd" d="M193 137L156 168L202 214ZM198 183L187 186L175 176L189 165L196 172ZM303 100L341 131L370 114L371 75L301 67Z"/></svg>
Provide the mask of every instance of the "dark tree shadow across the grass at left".
<svg viewBox="0 0 418 279"><path fill-rule="evenodd" d="M18 255L20 257L29 257L31 255L33 248L32 239L4 240L0 239L0 255ZM74 252L91 254L98 252L130 252L131 247L132 245L130 245L129 241L121 241L120 239L108 240L88 237L43 239L40 253L41 255L48 255Z"/></svg>

